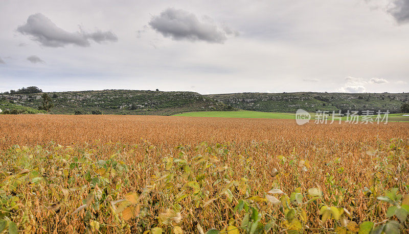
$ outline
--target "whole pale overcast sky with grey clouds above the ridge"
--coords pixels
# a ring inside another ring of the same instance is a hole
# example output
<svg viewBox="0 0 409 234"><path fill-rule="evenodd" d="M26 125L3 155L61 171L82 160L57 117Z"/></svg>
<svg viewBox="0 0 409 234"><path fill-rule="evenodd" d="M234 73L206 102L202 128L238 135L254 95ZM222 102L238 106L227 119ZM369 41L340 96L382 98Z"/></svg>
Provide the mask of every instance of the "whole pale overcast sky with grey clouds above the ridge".
<svg viewBox="0 0 409 234"><path fill-rule="evenodd" d="M409 0L1 0L0 32L0 91L409 91Z"/></svg>

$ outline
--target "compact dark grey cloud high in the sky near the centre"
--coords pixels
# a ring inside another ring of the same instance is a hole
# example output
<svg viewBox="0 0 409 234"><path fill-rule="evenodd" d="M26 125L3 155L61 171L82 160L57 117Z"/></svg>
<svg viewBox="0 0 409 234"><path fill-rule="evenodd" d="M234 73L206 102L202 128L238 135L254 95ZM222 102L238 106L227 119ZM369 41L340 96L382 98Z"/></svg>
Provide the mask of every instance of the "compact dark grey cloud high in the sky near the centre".
<svg viewBox="0 0 409 234"><path fill-rule="evenodd" d="M236 31L225 25L217 25L209 17L199 20L193 13L174 8L168 8L160 15L153 16L149 25L164 37L174 40L223 43L228 36L238 35Z"/></svg>

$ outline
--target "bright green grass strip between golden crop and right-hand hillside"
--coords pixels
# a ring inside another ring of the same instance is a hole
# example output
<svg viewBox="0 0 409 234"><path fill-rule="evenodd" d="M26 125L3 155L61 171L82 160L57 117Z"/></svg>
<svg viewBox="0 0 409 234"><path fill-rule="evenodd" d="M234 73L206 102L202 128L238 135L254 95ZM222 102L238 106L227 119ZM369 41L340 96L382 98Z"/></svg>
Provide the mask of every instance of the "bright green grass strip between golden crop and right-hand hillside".
<svg viewBox="0 0 409 234"><path fill-rule="evenodd" d="M314 121L315 113L311 114L311 121ZM293 113L276 113L276 112L259 112L259 111L200 111L176 114L174 116L194 116L194 117L223 117L223 118L266 118L266 119L295 119L296 115ZM375 121L376 115L372 116ZM331 121L329 116L328 120ZM343 117L347 120L347 117ZM361 121L361 116L359 116ZM402 116L402 114L389 114L388 121L393 122L408 122L409 116Z"/></svg>

